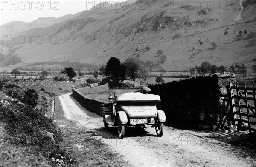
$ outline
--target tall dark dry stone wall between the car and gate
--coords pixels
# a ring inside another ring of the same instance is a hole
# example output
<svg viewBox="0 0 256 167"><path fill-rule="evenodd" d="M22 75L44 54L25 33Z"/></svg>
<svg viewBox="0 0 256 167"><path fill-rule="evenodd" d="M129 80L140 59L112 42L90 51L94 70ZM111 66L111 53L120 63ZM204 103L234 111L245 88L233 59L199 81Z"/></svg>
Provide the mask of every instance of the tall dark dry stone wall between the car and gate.
<svg viewBox="0 0 256 167"><path fill-rule="evenodd" d="M151 93L160 95L159 109L166 120L179 127L211 125L223 127L230 117L229 83L235 82L233 74L225 73L199 76L169 83L150 85Z"/></svg>

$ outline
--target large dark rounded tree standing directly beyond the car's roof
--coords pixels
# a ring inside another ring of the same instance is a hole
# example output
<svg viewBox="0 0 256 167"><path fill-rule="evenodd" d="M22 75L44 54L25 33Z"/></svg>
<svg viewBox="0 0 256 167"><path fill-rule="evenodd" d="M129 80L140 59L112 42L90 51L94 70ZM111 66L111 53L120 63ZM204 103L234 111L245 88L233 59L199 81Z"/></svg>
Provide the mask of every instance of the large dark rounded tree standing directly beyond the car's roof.
<svg viewBox="0 0 256 167"><path fill-rule="evenodd" d="M107 62L103 80L118 85L121 80L125 79L125 71L125 66L121 64L120 60L111 57Z"/></svg>

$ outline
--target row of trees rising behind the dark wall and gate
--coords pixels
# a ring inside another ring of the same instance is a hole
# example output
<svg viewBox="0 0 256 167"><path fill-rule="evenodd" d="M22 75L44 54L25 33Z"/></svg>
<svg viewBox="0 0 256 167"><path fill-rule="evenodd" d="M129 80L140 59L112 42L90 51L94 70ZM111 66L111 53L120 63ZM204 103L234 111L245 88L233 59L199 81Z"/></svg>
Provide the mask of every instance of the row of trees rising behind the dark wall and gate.
<svg viewBox="0 0 256 167"><path fill-rule="evenodd" d="M226 71L229 71L234 74L239 74L243 77L243 79L247 75L247 69L244 64L231 65L230 67L226 68L223 65L218 67L216 65L211 65L208 62L203 62L200 67L195 66L195 68L190 69L192 76L195 76L196 74L205 75L205 74L217 73L217 72L223 73Z"/></svg>

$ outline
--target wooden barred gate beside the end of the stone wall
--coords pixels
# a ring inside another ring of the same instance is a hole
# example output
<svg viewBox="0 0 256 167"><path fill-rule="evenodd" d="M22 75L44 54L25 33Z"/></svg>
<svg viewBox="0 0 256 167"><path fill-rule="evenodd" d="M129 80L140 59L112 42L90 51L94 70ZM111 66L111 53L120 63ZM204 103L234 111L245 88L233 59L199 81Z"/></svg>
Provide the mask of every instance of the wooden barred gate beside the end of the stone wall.
<svg viewBox="0 0 256 167"><path fill-rule="evenodd" d="M230 83L231 110L233 111L233 125L256 132L256 94L255 85L247 87L244 83L239 86Z"/></svg>

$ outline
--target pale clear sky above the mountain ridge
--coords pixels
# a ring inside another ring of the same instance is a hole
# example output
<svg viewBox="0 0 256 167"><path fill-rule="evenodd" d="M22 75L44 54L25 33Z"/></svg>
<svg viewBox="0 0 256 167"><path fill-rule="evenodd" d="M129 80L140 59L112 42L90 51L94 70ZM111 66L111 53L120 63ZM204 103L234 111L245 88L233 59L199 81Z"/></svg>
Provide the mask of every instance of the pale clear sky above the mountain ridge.
<svg viewBox="0 0 256 167"><path fill-rule="evenodd" d="M76 14L104 1L114 5L125 0L0 0L0 25L11 21L31 22L39 17L57 18Z"/></svg>

